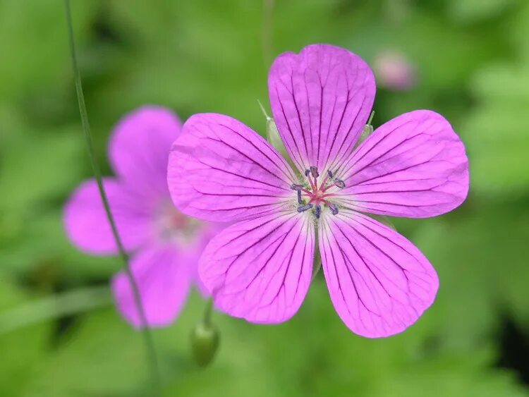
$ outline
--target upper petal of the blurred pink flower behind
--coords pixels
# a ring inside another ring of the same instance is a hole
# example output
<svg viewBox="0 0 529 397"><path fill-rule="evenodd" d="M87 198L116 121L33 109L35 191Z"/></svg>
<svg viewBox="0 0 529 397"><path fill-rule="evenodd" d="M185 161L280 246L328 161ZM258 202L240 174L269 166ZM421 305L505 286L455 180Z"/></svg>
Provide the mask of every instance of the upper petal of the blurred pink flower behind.
<svg viewBox="0 0 529 397"><path fill-rule="evenodd" d="M109 145L114 171L144 194L167 194L167 159L181 122L172 111L144 106L123 117Z"/></svg>

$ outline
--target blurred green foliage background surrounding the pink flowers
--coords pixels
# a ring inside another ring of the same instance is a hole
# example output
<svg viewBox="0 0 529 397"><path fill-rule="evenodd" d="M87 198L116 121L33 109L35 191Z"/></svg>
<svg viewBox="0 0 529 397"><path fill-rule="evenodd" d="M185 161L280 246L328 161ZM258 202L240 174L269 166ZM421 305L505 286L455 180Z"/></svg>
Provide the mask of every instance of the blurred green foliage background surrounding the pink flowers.
<svg viewBox="0 0 529 397"><path fill-rule="evenodd" d="M141 104L183 119L225 113L265 133L269 64L315 42L372 65L400 54L415 81L384 87L376 71L375 127L434 109L470 157L462 207L394 220L441 280L417 324L351 334L320 275L286 324L214 314L221 349L199 369L193 293L174 326L154 331L164 396L529 396L528 1L276 0L271 19L260 0L72 3L105 173L114 123ZM63 231L63 203L88 177L63 3L0 0L0 396L153 395L142 338L108 291L120 262L78 252Z"/></svg>

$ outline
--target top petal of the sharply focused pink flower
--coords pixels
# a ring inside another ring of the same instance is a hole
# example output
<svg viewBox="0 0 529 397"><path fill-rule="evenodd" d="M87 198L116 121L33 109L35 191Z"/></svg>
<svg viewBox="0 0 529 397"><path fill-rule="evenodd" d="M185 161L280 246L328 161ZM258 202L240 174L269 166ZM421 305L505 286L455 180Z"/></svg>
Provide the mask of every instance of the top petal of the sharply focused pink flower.
<svg viewBox="0 0 529 397"><path fill-rule="evenodd" d="M375 77L367 63L326 44L277 57L268 88L277 128L301 173L310 166L321 172L340 164L375 99Z"/></svg>

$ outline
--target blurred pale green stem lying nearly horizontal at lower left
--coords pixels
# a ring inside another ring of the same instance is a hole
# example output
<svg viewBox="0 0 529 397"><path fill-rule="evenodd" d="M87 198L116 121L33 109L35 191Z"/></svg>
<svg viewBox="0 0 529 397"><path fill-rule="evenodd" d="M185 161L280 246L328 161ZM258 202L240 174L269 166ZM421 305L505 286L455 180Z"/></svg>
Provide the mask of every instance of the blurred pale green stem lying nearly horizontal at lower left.
<svg viewBox="0 0 529 397"><path fill-rule="evenodd" d="M0 334L6 334L49 319L110 305L111 302L108 286L80 288L49 295L1 313Z"/></svg>

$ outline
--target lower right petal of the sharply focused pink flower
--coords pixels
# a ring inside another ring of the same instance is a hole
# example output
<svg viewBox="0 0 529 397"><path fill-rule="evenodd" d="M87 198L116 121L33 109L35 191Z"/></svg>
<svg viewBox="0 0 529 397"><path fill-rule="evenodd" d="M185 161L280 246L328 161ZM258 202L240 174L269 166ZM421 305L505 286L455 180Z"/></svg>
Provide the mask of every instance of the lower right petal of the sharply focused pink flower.
<svg viewBox="0 0 529 397"><path fill-rule="evenodd" d="M368 338L404 331L432 305L439 280L406 238L368 216L341 210L320 228L332 303L351 331Z"/></svg>

